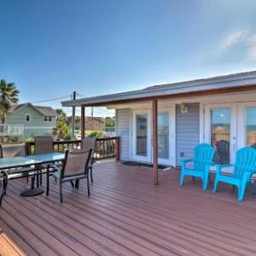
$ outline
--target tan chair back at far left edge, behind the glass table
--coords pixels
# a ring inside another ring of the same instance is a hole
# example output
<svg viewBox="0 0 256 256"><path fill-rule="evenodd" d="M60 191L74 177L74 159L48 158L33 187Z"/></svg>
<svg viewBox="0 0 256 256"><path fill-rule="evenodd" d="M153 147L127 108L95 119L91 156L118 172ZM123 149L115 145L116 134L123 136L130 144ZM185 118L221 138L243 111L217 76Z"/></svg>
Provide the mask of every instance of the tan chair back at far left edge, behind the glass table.
<svg viewBox="0 0 256 256"><path fill-rule="evenodd" d="M26 143L3 144L0 147L0 157L14 157L26 155Z"/></svg>

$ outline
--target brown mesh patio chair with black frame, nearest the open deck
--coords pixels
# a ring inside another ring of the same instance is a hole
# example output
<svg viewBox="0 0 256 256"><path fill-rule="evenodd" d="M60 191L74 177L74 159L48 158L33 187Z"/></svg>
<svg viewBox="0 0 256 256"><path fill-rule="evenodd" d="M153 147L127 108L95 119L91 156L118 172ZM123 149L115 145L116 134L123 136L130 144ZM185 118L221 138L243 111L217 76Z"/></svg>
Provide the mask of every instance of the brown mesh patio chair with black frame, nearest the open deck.
<svg viewBox="0 0 256 256"><path fill-rule="evenodd" d="M54 175L60 179L60 194L61 194L61 203L63 202L62 197L62 183L75 182L76 189L79 189L78 181L80 179L87 180L87 192L90 196L90 182L89 182L89 162L91 156L92 148L89 150L84 149L75 149L73 151L66 151L65 160L59 172L55 172ZM55 167L58 169L58 166Z"/></svg>

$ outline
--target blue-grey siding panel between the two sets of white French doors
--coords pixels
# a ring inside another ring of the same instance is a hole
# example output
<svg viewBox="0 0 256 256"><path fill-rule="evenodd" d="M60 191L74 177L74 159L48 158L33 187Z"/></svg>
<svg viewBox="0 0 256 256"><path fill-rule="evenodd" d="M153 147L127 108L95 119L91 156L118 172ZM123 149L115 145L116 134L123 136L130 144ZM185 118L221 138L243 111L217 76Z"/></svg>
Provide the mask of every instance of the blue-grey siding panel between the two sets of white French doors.
<svg viewBox="0 0 256 256"><path fill-rule="evenodd" d="M188 103L188 113L181 113L176 106L176 165L181 160L193 157L193 151L200 142L200 104Z"/></svg>

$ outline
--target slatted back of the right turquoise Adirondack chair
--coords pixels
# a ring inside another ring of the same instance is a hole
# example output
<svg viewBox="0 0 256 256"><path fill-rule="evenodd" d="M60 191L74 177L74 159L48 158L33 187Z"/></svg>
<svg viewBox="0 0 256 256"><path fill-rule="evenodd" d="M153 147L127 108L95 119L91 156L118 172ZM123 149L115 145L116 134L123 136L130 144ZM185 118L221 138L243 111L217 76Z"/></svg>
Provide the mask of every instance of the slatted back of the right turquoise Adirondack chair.
<svg viewBox="0 0 256 256"><path fill-rule="evenodd" d="M233 177L241 178L243 172L253 172L256 170L256 149L246 147L236 152L236 163Z"/></svg>

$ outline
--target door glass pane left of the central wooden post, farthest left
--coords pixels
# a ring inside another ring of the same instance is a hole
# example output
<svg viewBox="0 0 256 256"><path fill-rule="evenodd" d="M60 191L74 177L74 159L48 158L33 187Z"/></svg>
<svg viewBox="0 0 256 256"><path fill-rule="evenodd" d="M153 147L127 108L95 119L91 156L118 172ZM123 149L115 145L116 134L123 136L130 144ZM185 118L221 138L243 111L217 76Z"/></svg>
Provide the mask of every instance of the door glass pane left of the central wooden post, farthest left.
<svg viewBox="0 0 256 256"><path fill-rule="evenodd" d="M147 156L148 115L136 115L136 154Z"/></svg>

